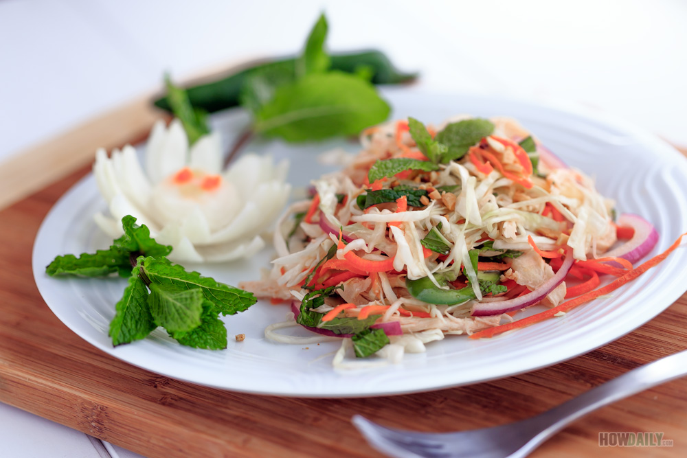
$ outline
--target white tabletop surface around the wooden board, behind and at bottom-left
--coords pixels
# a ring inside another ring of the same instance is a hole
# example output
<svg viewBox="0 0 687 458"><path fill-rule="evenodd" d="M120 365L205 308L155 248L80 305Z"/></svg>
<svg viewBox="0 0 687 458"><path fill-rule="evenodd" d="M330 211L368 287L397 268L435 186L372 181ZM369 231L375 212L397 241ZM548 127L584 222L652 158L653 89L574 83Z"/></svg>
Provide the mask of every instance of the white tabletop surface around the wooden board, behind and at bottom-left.
<svg viewBox="0 0 687 458"><path fill-rule="evenodd" d="M434 91L592 106L687 146L687 2L0 2L0 166L176 80L293 54L325 11L335 51L376 47ZM460 107L456 107L460 112ZM100 457L82 433L0 404L8 457ZM112 457L134 453L105 444Z"/></svg>

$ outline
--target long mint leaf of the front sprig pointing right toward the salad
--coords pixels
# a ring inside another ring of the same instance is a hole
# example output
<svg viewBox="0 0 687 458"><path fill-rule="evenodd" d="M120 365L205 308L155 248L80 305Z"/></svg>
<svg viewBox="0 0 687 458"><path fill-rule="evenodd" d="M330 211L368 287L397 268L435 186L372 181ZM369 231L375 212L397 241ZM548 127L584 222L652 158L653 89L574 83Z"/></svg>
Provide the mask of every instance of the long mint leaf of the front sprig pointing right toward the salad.
<svg viewBox="0 0 687 458"><path fill-rule="evenodd" d="M243 312L256 303L252 293L218 283L210 277L201 277L197 272L187 272L179 264L172 264L166 258L146 257L142 262L142 272L150 283L173 285L178 288L200 288L205 299L214 304L216 310L224 315Z"/></svg>

